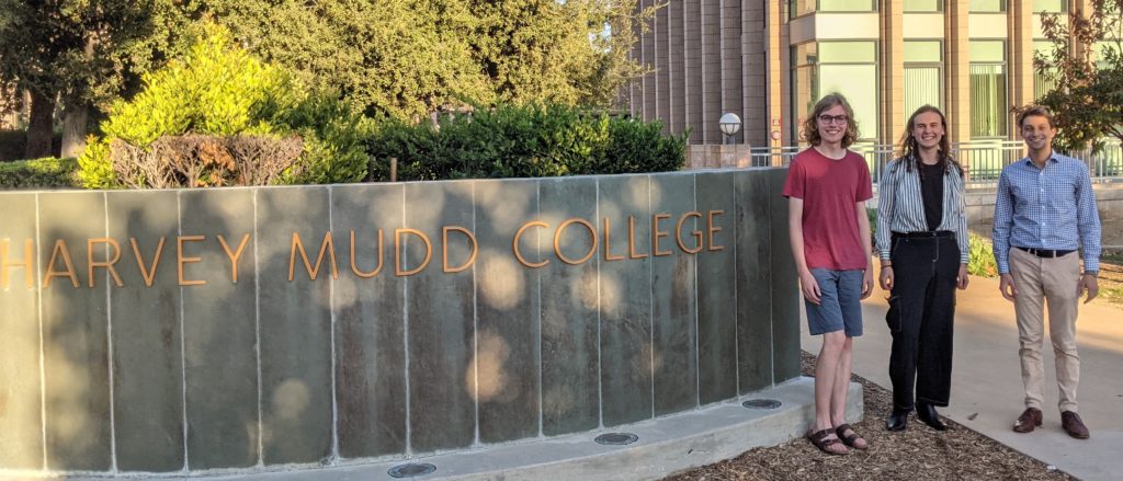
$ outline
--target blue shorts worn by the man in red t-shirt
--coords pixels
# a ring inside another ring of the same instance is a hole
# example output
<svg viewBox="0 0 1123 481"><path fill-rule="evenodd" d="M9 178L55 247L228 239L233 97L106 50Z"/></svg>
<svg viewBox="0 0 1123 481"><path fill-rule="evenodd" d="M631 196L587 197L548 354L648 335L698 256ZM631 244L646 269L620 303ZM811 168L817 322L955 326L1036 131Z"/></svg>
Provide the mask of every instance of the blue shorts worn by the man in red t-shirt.
<svg viewBox="0 0 1123 481"><path fill-rule="evenodd" d="M811 269L819 283L819 300L807 306L807 329L812 335L846 330L846 335L861 335L861 270Z"/></svg>

